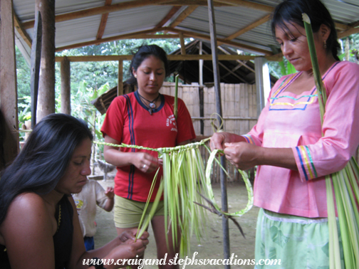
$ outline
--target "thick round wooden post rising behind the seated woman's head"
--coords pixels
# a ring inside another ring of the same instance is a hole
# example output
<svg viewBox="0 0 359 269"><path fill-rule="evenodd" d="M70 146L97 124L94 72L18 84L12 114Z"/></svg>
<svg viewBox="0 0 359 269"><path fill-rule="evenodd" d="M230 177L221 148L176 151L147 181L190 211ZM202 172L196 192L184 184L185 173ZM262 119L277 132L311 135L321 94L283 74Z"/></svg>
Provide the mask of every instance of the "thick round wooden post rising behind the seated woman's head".
<svg viewBox="0 0 359 269"><path fill-rule="evenodd" d="M38 120L55 112L55 0L36 0L41 12L42 42L38 83Z"/></svg>

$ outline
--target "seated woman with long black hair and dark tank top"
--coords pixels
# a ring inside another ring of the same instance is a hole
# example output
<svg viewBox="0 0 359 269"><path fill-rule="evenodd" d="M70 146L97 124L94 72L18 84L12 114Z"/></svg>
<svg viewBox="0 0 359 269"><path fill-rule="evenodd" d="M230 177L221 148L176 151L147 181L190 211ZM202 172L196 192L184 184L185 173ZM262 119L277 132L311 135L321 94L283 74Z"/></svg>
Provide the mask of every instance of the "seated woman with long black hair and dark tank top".
<svg viewBox="0 0 359 269"><path fill-rule="evenodd" d="M126 231L87 252L71 194L90 174L93 135L85 122L64 114L44 117L0 180L0 268L89 268L87 259L142 255L148 233L135 242ZM118 268L125 265L96 265ZM90 268L95 269L92 265Z"/></svg>

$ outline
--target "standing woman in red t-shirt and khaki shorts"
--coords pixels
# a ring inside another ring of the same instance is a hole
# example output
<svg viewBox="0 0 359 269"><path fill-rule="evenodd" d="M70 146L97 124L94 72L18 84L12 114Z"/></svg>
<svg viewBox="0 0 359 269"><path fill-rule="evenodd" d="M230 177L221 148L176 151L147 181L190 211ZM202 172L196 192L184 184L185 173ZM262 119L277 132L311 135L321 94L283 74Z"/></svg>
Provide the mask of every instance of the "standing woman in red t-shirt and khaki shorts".
<svg viewBox="0 0 359 269"><path fill-rule="evenodd" d="M101 128L105 142L159 148L187 144L195 138L184 102L178 99L176 120L175 98L160 94L166 75L170 75L167 56L162 48L156 45L140 47L132 58L130 75L130 83L136 83L138 90L118 96L111 103ZM119 150L118 147L105 146L103 154L105 161L118 169L115 176L115 226L120 234L138 227L152 180L161 162L157 152L144 149L123 147ZM158 179L161 176L162 167ZM147 210L152 207L159 184L160 180L155 185ZM179 252L180 246L177 243L175 248L172 247L172 230L165 227L164 214L163 201L160 201L151 224L157 258L167 255L169 260ZM179 233L177 238L180 238ZM176 265L165 264L160 268L176 268Z"/></svg>

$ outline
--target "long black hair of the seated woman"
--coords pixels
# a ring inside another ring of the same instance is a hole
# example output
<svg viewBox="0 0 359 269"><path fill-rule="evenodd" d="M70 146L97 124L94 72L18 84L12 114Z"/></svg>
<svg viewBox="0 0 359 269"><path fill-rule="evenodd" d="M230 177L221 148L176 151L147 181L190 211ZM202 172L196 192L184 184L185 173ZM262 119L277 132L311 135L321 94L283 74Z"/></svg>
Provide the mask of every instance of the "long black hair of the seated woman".
<svg viewBox="0 0 359 269"><path fill-rule="evenodd" d="M73 151L93 135L83 120L51 114L38 122L26 144L1 174L0 224L14 198L24 192L48 194L66 172Z"/></svg>

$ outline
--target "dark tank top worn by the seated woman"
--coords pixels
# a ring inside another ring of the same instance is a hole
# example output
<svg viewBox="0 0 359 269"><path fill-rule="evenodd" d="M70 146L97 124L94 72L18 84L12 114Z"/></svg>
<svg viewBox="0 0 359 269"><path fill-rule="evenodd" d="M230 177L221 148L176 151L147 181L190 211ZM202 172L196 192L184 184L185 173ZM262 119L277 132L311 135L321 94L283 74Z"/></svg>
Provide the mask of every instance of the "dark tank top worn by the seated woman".
<svg viewBox="0 0 359 269"><path fill-rule="evenodd" d="M68 201L68 196L63 196L59 202L61 212L58 214L56 221L60 217L60 226L53 236L53 246L55 249L56 269L68 268L70 261L72 239L73 239L73 207ZM6 247L0 245L0 268L11 269Z"/></svg>

